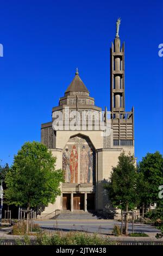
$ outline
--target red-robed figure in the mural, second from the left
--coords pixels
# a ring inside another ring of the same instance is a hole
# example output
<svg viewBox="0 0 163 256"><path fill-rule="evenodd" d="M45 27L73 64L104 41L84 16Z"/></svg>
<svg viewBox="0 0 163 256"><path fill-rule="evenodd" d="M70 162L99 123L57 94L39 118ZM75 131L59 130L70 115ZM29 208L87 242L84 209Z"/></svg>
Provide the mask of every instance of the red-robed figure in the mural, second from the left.
<svg viewBox="0 0 163 256"><path fill-rule="evenodd" d="M78 183L78 153L73 145L70 156L71 183Z"/></svg>

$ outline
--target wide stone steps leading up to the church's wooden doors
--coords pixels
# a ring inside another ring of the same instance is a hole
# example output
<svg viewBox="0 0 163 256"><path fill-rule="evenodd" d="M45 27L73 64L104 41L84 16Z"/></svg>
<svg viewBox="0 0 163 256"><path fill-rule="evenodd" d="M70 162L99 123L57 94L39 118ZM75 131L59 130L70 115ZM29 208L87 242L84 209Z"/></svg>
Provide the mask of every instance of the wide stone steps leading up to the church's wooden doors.
<svg viewBox="0 0 163 256"><path fill-rule="evenodd" d="M84 211L63 211L54 218L55 220L98 220L95 214Z"/></svg>

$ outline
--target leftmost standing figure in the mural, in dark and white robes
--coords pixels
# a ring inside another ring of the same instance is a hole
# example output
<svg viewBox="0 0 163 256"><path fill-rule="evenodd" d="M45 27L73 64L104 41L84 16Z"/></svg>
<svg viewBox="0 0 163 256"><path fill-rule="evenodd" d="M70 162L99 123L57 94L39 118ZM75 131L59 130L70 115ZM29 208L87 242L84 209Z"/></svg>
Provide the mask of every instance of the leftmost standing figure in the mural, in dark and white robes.
<svg viewBox="0 0 163 256"><path fill-rule="evenodd" d="M65 152L62 157L62 166L63 166L63 170L65 170L65 182L70 183L70 180L71 180L70 151L68 151L67 146L65 148Z"/></svg>

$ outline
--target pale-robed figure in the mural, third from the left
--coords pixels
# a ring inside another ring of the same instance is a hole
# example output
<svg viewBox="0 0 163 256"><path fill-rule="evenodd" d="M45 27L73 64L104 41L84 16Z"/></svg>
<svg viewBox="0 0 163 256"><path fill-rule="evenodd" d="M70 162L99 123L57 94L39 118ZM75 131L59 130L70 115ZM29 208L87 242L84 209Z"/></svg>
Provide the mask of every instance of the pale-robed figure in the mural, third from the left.
<svg viewBox="0 0 163 256"><path fill-rule="evenodd" d="M85 145L82 147L82 152L80 154L80 183L87 182L87 170L88 170L88 156L85 149Z"/></svg>

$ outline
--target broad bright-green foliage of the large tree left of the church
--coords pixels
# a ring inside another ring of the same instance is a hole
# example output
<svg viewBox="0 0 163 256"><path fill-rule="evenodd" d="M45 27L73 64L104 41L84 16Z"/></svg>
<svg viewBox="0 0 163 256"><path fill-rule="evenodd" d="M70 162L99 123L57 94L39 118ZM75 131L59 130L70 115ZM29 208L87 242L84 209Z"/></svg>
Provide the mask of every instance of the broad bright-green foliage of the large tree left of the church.
<svg viewBox="0 0 163 256"><path fill-rule="evenodd" d="M55 170L55 161L45 145L24 143L5 176L5 202L27 207L54 203L61 193L60 182L64 182L62 170Z"/></svg>

